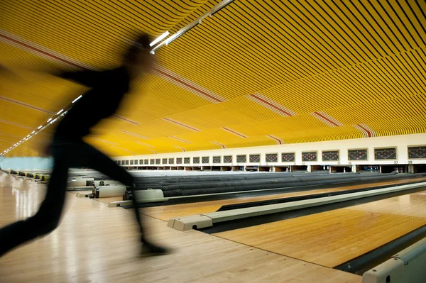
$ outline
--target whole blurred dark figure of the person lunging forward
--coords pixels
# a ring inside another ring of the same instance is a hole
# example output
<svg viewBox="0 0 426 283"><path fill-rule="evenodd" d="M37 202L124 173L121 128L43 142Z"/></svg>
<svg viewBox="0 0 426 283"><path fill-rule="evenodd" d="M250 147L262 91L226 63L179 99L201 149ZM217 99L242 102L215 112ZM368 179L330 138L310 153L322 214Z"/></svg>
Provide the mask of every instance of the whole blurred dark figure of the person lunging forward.
<svg viewBox="0 0 426 283"><path fill-rule="evenodd" d="M150 43L148 35L138 36L126 50L121 65L113 70L50 71L63 79L83 84L89 90L75 101L55 130L53 141L48 147L48 152L53 155L53 171L38 212L26 220L0 229L0 257L18 245L47 235L58 227L65 204L70 167L90 167L97 170L126 185L135 195L132 175L107 155L84 143L83 138L99 121L112 116L119 109L121 101L129 92L131 81L151 69L153 56L150 54ZM2 73L9 73L4 66L0 69ZM168 253L168 249L155 245L146 238L135 198L133 206L141 230L142 255Z"/></svg>

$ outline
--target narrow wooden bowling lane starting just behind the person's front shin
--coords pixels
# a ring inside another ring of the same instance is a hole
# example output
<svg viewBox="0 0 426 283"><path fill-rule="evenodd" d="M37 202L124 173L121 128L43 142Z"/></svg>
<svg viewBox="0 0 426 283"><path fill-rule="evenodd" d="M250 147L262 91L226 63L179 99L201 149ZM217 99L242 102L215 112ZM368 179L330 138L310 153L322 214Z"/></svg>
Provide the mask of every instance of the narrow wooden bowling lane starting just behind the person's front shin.
<svg viewBox="0 0 426 283"><path fill-rule="evenodd" d="M418 182L426 181L426 178L418 178L415 179ZM195 202L191 204L175 204L170 206L155 206L148 207L143 209L143 214L147 216L152 216L164 221L168 221L170 218L182 217L182 216L191 216L195 214L202 213L210 213L217 211L221 206L227 204L241 204L245 202L251 201L265 201L269 199L282 199L285 197L291 196L307 196L310 194L322 194L329 192L342 192L350 189L367 189L371 187L377 186L386 186L393 184L405 184L408 182L413 182L414 179L403 179L403 180L395 180L390 182L377 182L371 184L358 184L346 187L332 187L329 189L318 189L318 190L310 190L310 191L302 191L302 192L291 192L285 194L269 194L266 196L252 196L252 197L243 197L239 199L222 199L220 201L203 201L203 202ZM331 187L331 186L330 186ZM303 188L301 188L303 189Z"/></svg>

